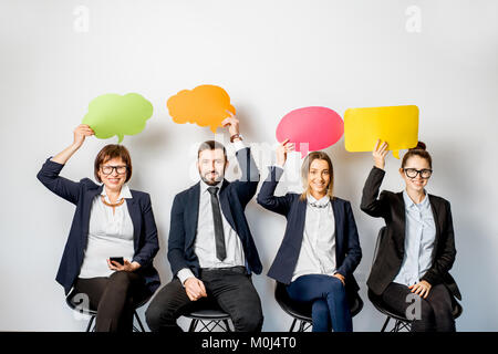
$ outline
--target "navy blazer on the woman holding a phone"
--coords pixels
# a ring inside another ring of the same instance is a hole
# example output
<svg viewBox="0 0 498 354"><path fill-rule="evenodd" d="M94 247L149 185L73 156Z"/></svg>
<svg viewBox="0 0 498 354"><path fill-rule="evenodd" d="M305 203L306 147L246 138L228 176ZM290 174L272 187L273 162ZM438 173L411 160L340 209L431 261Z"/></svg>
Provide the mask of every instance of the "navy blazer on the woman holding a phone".
<svg viewBox="0 0 498 354"><path fill-rule="evenodd" d="M74 204L71 230L65 243L62 260L55 280L64 287L65 294L71 291L83 263L84 250L89 239L90 211L95 196L100 195L103 185L98 186L89 178L79 183L59 176L64 165L46 159L37 178L51 191ZM132 261L142 267L136 273L145 278L145 284L154 293L160 284L159 274L153 266L154 257L159 250L157 228L148 194L131 190L133 198L125 199L134 228L135 254ZM110 254L112 256L112 254Z"/></svg>

